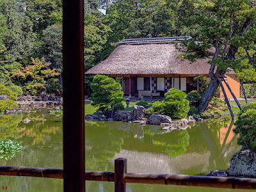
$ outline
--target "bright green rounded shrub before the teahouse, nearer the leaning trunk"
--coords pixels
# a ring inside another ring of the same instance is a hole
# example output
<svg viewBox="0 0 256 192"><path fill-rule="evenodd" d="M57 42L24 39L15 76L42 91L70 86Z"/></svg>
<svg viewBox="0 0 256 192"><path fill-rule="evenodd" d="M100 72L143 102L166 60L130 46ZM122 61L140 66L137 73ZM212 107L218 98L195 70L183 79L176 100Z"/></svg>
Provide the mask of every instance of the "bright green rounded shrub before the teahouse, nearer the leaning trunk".
<svg viewBox="0 0 256 192"><path fill-rule="evenodd" d="M152 108L154 112L168 115L171 118L186 118L189 111L189 101L186 99L186 93L172 88L165 93L164 100L155 102Z"/></svg>

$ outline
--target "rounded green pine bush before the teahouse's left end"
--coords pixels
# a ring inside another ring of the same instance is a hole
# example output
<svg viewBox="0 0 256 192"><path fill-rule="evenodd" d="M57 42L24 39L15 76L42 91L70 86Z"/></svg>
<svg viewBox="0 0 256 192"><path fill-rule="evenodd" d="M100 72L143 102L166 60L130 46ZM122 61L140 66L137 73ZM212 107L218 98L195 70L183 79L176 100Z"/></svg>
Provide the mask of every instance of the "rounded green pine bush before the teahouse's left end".
<svg viewBox="0 0 256 192"><path fill-rule="evenodd" d="M116 83L111 77L102 75L93 77L91 88L92 106L96 106L100 111L106 111L125 100L120 83Z"/></svg>

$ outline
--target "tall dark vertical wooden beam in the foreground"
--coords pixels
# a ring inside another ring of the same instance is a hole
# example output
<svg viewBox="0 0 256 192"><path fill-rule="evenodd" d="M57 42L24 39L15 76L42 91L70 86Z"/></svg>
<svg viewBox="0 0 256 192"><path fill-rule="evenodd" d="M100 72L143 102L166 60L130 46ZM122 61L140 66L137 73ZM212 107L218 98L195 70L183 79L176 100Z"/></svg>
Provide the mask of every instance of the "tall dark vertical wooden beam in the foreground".
<svg viewBox="0 0 256 192"><path fill-rule="evenodd" d="M63 178L64 191L85 191L84 6L63 0Z"/></svg>

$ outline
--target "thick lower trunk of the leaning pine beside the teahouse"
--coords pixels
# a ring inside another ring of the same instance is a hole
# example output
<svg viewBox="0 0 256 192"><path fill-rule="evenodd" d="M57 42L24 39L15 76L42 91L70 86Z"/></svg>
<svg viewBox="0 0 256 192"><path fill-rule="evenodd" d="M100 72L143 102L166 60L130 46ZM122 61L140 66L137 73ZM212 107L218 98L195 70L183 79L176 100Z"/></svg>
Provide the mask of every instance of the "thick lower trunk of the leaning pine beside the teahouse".
<svg viewBox="0 0 256 192"><path fill-rule="evenodd" d="M209 102L212 100L212 97L214 93L216 92L220 82L218 79L212 79L207 90L204 92L204 95L202 95L201 102L198 106L199 113L202 113L205 111L207 106L209 105Z"/></svg>

